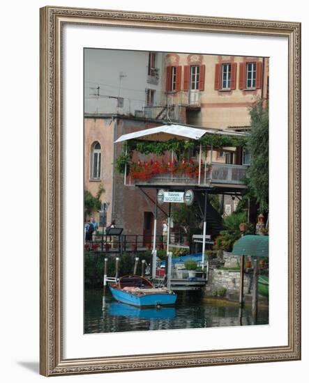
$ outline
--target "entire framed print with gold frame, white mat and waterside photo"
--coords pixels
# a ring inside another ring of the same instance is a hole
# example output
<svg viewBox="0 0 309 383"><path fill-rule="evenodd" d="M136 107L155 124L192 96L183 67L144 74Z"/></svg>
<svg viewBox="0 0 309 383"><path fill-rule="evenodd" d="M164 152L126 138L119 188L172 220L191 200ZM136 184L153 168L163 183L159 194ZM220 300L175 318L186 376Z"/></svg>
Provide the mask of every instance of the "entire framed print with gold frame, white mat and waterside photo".
<svg viewBox="0 0 309 383"><path fill-rule="evenodd" d="M301 25L40 17L40 373L300 359Z"/></svg>

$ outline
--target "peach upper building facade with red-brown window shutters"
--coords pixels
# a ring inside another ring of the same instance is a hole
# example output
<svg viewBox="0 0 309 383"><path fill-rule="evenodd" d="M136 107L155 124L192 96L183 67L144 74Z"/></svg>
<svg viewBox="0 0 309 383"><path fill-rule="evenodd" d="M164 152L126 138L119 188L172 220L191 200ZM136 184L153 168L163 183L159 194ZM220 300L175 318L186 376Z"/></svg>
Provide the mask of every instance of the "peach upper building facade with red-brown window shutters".
<svg viewBox="0 0 309 383"><path fill-rule="evenodd" d="M248 129L248 108L268 99L269 58L171 53L164 67L161 102L181 105L182 123Z"/></svg>

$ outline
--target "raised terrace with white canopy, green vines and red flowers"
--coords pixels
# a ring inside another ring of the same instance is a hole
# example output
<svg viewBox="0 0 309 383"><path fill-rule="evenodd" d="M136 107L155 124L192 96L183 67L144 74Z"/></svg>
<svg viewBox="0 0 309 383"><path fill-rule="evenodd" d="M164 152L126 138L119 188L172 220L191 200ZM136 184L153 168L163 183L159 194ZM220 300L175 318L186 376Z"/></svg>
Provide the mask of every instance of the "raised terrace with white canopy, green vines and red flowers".
<svg viewBox="0 0 309 383"><path fill-rule="evenodd" d="M167 124L123 134L115 143L135 140L130 155L127 144L119 157L125 159L125 185L236 191L246 187L248 166L243 164L242 148L245 136L240 132Z"/></svg>

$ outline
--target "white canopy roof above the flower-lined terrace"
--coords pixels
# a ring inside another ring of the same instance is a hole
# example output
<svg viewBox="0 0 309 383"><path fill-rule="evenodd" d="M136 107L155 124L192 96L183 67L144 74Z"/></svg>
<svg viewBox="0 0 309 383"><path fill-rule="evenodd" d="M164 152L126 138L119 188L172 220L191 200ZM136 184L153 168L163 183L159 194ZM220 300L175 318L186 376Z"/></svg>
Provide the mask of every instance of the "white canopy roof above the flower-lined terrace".
<svg viewBox="0 0 309 383"><path fill-rule="evenodd" d="M140 139L146 141L168 141L169 139L200 139L204 134L225 134L227 136L246 136L246 133L231 132L217 129L198 129L186 125L161 125L151 127L149 129L140 130L138 132L123 134L115 141L115 143L128 141L130 139Z"/></svg>

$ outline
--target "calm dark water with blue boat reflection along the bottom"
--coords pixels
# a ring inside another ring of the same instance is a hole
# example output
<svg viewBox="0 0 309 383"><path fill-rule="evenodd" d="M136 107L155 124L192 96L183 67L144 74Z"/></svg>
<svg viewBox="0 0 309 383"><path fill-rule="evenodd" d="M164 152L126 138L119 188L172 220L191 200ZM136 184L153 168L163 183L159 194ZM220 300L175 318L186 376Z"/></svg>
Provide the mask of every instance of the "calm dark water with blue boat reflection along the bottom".
<svg viewBox="0 0 309 383"><path fill-rule="evenodd" d="M108 289L85 290L84 309L85 334L254 325L250 308L205 303L197 292L178 292L175 306L135 308L116 302ZM260 309L256 325L268 323L268 309Z"/></svg>

